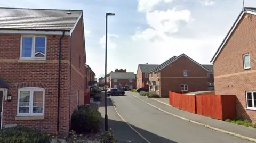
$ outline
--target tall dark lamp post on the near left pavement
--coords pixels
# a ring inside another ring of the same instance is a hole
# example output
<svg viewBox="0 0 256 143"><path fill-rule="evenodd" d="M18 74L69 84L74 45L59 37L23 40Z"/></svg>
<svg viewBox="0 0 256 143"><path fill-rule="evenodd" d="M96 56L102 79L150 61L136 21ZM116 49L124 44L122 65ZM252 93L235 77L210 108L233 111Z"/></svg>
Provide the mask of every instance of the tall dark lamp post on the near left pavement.
<svg viewBox="0 0 256 143"><path fill-rule="evenodd" d="M106 13L106 41L105 41L105 131L108 131L107 114L107 43L108 43L108 16L115 16L115 13Z"/></svg>

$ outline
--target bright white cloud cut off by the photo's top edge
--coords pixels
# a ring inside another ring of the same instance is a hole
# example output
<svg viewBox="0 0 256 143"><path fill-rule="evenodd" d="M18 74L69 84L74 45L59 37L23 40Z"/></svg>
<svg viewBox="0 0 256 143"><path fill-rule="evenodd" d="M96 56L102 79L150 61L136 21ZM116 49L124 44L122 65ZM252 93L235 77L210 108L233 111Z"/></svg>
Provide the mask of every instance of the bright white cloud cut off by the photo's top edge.
<svg viewBox="0 0 256 143"><path fill-rule="evenodd" d="M148 11L151 11L155 5L157 5L161 2L170 3L172 1L173 0L138 0L137 9L139 11L148 12Z"/></svg>

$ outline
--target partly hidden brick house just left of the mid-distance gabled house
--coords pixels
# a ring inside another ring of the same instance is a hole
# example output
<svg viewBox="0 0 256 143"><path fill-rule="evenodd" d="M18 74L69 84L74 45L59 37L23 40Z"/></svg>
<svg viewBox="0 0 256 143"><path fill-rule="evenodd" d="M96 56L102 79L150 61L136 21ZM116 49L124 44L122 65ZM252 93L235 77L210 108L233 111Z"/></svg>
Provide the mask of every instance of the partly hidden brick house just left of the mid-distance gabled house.
<svg viewBox="0 0 256 143"><path fill-rule="evenodd" d="M148 72L156 68L157 64L139 64L136 74L137 89L140 87L148 87Z"/></svg>

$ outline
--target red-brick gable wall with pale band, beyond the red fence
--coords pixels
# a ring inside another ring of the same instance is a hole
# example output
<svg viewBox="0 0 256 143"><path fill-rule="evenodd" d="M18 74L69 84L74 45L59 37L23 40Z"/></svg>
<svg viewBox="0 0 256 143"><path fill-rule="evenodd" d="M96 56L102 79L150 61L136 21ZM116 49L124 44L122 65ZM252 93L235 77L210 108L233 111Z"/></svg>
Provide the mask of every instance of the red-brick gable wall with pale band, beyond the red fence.
<svg viewBox="0 0 256 143"><path fill-rule="evenodd" d="M187 77L183 75L184 70L188 71ZM187 84L188 91L207 90L207 71L185 56L166 66L159 75L161 97L168 97L169 90L180 91L181 84Z"/></svg>

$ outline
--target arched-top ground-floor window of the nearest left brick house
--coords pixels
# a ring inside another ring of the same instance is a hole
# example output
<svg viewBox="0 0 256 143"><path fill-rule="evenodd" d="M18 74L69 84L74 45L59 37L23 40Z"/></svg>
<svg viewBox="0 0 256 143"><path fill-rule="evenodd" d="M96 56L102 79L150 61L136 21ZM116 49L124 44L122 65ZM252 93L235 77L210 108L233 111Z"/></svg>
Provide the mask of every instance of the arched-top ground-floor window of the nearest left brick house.
<svg viewBox="0 0 256 143"><path fill-rule="evenodd" d="M17 116L43 116L44 94L43 88L19 89Z"/></svg>

